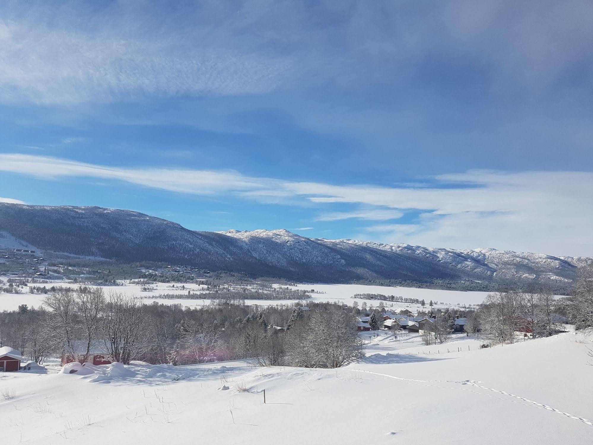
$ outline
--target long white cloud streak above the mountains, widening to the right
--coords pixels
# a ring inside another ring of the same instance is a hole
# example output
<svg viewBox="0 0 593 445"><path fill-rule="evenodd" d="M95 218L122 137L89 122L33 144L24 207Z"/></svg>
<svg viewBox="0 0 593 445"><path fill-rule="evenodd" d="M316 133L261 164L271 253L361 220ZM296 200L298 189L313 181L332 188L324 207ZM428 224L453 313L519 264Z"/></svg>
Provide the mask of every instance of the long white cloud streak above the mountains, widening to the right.
<svg viewBox="0 0 593 445"><path fill-rule="evenodd" d="M589 172L470 170L435 176L432 187L380 187L294 182L244 176L238 171L107 167L21 154L1 154L0 171L53 180L117 180L170 192L227 195L269 204L308 203L326 210L316 218L321 221L380 221L413 210L417 214L413 221L370 225L361 229L359 237L554 255L593 253L593 173ZM354 208L331 212L334 204Z"/></svg>

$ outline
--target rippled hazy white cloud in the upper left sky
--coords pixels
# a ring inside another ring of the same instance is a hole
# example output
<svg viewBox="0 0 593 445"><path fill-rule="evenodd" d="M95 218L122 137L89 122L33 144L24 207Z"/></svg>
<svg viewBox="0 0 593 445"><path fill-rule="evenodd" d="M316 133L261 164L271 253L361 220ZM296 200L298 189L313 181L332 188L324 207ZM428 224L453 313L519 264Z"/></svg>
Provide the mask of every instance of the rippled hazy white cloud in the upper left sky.
<svg viewBox="0 0 593 445"><path fill-rule="evenodd" d="M292 72L282 55L242 44L241 24L213 27L208 16L216 14L215 6L204 5L200 14L167 8L170 22L155 20L159 11L151 15L141 5L115 3L99 14L93 9L73 5L55 16L53 8L38 4L5 11L0 100L71 105L261 94ZM184 13L195 18L193 27ZM80 20L87 26L76 26Z"/></svg>

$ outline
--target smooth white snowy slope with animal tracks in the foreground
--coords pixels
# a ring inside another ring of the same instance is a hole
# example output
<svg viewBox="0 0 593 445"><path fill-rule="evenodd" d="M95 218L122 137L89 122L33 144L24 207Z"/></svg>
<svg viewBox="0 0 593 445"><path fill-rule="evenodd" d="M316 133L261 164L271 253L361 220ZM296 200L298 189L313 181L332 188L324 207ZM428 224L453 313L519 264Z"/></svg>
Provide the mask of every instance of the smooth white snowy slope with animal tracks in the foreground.
<svg viewBox="0 0 593 445"><path fill-rule="evenodd" d="M234 361L103 365L85 376L7 373L0 389L14 399L0 396L2 437L44 444L591 443L591 343L580 336L491 349L476 349L478 341L464 335L430 348L415 335L364 338L370 355L338 370Z"/></svg>

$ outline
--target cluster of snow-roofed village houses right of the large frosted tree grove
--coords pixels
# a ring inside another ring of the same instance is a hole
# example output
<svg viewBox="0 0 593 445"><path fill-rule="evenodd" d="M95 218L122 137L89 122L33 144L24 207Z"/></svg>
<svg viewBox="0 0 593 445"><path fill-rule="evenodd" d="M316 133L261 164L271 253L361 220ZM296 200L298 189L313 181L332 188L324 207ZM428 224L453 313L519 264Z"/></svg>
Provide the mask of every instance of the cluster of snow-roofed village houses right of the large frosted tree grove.
<svg viewBox="0 0 593 445"><path fill-rule="evenodd" d="M399 314L393 312L383 312L378 314L378 324L380 329L388 330L406 330L407 332L422 333L423 331L434 332L436 317L430 316L415 317L413 313L404 309ZM371 317L356 317L356 330L371 330ZM455 316L455 332L463 332L466 327L467 319L465 317Z"/></svg>

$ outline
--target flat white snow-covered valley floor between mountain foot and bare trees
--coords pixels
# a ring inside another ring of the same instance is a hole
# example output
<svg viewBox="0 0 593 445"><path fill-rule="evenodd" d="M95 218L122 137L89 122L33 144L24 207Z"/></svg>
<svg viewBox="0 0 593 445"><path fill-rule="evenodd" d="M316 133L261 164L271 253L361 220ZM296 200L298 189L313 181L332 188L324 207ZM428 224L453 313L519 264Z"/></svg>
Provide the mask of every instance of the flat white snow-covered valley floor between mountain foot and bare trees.
<svg viewBox="0 0 593 445"><path fill-rule="evenodd" d="M43 284L47 287L52 285L56 286L68 286L78 287L78 284L74 284L68 281L55 281L49 284ZM136 297L144 298L145 303L151 303L152 301L159 301L165 304L181 304L183 306L202 306L203 304L209 304L210 300L201 299L162 299L158 298L158 295L162 294L177 294L187 295L187 291L192 293L205 292L205 286L199 284L184 284L184 288L181 288L180 284L175 284L175 287L171 287L171 284L158 283L151 285L154 290L142 291L142 285L125 283L121 286L103 286L105 293L117 292L126 295L134 295ZM358 301L358 304L362 304L365 300L351 298L354 294L383 294L383 295L396 295L400 297L418 298L419 300L424 299L426 301L426 307L430 300L439 301L439 304L435 307L444 306L457 306L458 304L479 304L482 303L488 293L486 292L463 292L463 291L444 291L444 290L433 290L433 289L418 289L409 287L384 287L384 286L368 286L361 284L299 284L292 286L292 289L299 290L311 290L323 292L321 294L313 294L313 298L310 300L247 300L247 304L293 304L297 301L332 301L352 306L354 301ZM26 290L25 290L26 291ZM15 310L19 304L27 304L28 306L39 306L43 300L44 295L40 294L6 294L0 293L0 310ZM374 304L377 306L379 301L377 300L366 300L367 304ZM306 303L305 303L306 304ZM384 301L385 307L393 310L409 309L415 311L420 309L419 304L414 303L389 303Z"/></svg>

